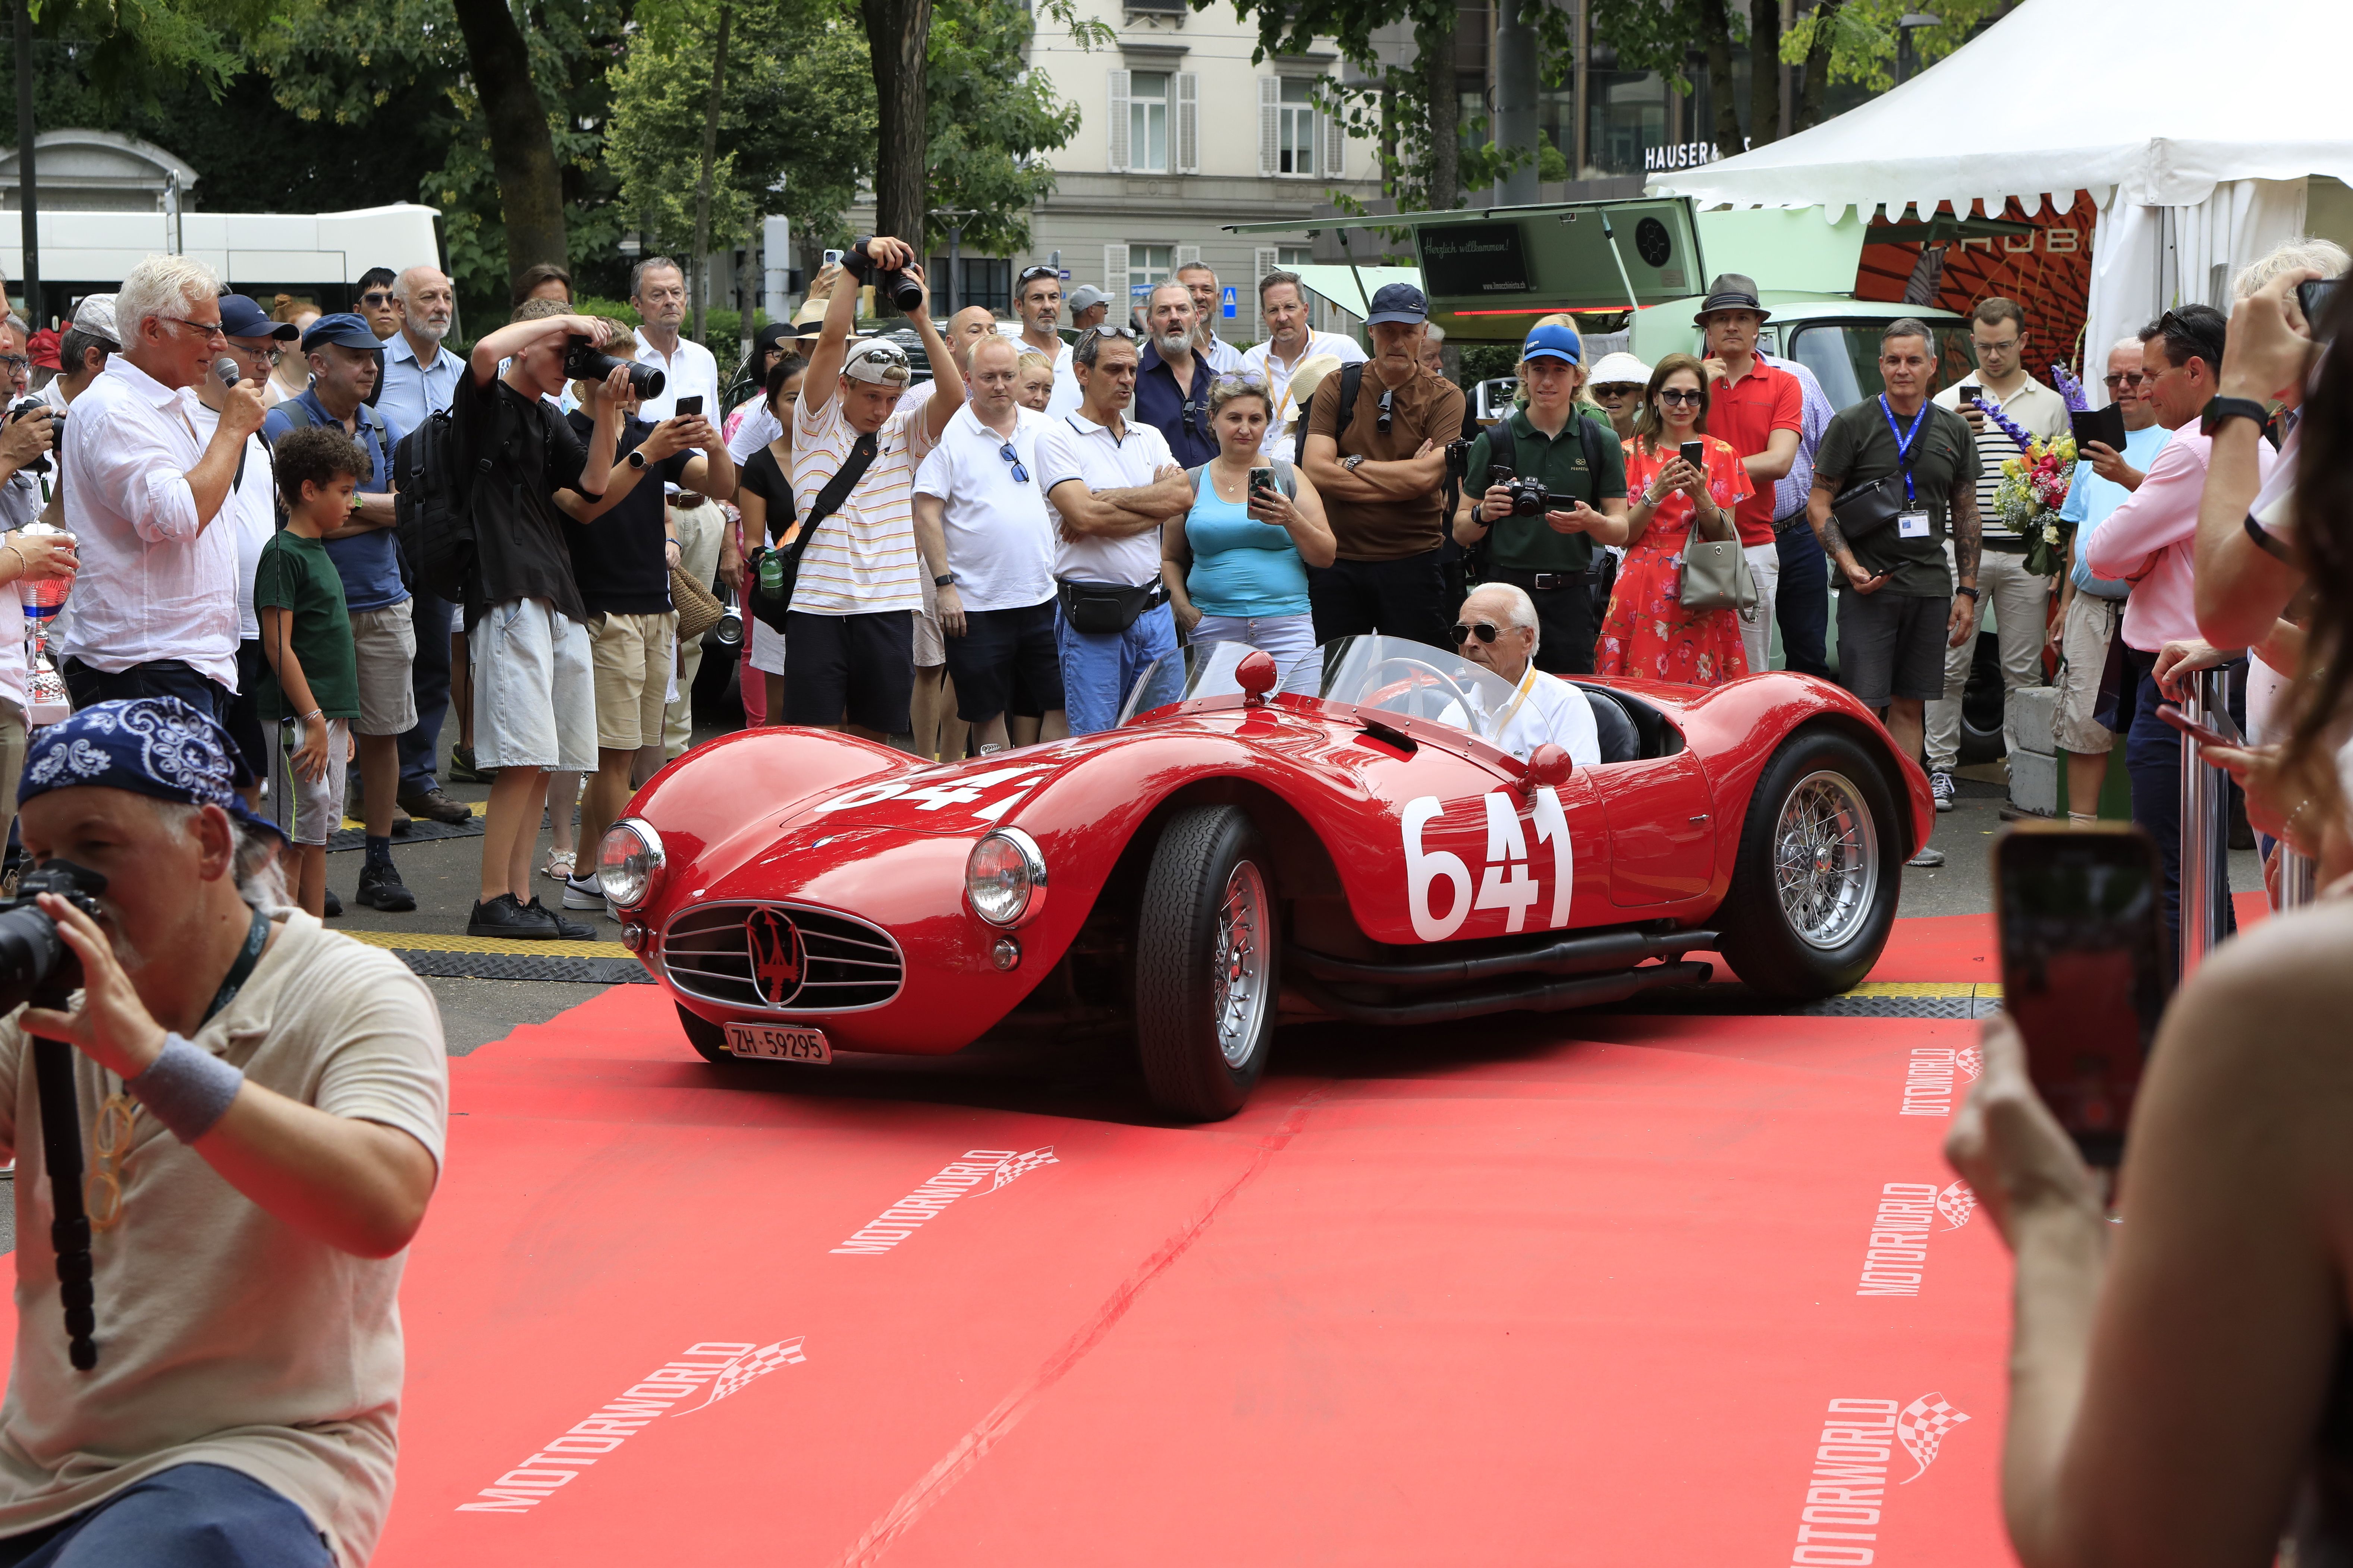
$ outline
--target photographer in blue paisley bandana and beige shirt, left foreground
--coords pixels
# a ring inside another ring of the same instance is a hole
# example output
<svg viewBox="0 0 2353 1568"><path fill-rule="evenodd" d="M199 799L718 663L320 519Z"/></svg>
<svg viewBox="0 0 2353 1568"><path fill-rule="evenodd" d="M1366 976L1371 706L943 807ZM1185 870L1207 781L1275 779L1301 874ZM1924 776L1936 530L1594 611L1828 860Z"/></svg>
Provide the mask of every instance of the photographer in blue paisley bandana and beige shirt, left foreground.
<svg viewBox="0 0 2353 1568"><path fill-rule="evenodd" d="M0 1145L21 1154L9 1568L353 1566L391 1509L440 1018L398 959L285 910L242 773L228 733L174 698L33 738L24 849L106 886L99 919L40 896L82 966L73 1011L0 1025ZM24 980L0 973L14 994ZM68 1363L28 1032L75 1046L92 1371Z"/></svg>

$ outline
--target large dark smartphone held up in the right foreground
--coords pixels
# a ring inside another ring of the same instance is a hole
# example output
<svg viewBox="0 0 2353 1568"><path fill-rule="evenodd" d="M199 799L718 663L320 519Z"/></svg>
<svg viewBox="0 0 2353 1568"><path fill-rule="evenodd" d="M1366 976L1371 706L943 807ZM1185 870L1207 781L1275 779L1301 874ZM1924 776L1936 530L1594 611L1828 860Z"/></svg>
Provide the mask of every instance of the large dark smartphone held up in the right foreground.
<svg viewBox="0 0 2353 1568"><path fill-rule="evenodd" d="M2158 846L2125 825L2021 825L1993 842L1993 882L2026 1072L2085 1161L2115 1166L2172 992Z"/></svg>

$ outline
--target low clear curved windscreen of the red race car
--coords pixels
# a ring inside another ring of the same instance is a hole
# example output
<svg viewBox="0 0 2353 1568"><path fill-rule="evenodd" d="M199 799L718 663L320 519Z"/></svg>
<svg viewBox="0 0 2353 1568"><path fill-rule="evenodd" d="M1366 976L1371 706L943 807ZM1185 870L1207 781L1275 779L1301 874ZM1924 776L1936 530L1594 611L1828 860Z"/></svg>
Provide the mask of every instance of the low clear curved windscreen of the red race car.
<svg viewBox="0 0 2353 1568"><path fill-rule="evenodd" d="M1231 696L1235 668L1252 654L1242 642L1193 644L1153 663L1127 696L1120 724L1165 703ZM1285 668L1287 665L1287 668ZM1513 686L1459 654L1405 637L1341 637L1292 661L1275 661L1278 684L1329 703L1431 719L1492 741L1511 712Z"/></svg>

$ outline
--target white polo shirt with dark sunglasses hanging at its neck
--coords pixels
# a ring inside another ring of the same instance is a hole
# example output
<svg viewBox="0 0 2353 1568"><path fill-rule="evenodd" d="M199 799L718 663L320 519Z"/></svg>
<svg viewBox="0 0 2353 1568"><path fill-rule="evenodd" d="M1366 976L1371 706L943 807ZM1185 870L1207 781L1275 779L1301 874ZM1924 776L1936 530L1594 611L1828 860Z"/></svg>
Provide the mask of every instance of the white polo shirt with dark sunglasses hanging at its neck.
<svg viewBox="0 0 2353 1568"><path fill-rule="evenodd" d="M1054 515L1038 484L1038 433L1047 416L1014 404L1012 440L967 402L915 470L915 494L939 496L948 569L965 609L1028 609L1054 597ZM1014 477L1005 447L1021 458Z"/></svg>

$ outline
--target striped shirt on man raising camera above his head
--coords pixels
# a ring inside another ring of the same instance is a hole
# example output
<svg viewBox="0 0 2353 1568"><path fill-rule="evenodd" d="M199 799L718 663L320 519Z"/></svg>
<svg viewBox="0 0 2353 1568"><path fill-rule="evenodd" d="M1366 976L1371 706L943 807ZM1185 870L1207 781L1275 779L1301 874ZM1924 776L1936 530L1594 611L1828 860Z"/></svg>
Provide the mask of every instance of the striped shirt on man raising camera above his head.
<svg viewBox="0 0 2353 1568"><path fill-rule="evenodd" d="M915 468L932 451L929 404L899 409L875 433L868 463L842 508L816 524L793 609L812 616L868 616L922 609L922 562L915 555ZM842 400L809 409L802 390L793 404L793 503L807 517L816 491L840 473L859 433L842 418Z"/></svg>

